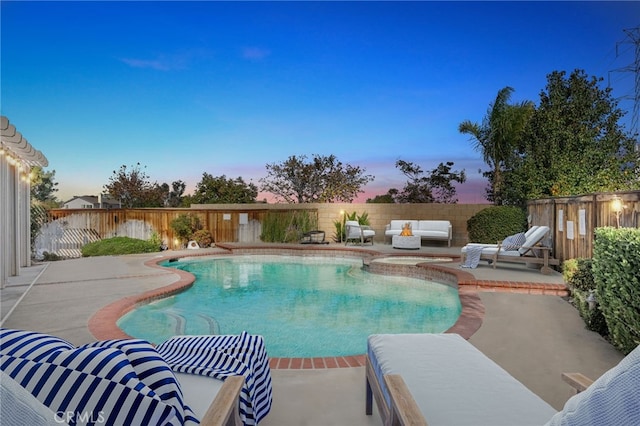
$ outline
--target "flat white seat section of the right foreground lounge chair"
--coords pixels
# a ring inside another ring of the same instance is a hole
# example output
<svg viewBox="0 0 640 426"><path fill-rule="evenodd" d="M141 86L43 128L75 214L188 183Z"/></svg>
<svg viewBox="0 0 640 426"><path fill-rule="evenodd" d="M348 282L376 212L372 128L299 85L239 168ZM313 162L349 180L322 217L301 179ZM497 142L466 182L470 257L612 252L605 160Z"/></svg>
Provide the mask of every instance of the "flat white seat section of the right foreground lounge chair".
<svg viewBox="0 0 640 426"><path fill-rule="evenodd" d="M539 426L556 413L460 335L377 334L367 345L366 414L375 397L385 425Z"/></svg>

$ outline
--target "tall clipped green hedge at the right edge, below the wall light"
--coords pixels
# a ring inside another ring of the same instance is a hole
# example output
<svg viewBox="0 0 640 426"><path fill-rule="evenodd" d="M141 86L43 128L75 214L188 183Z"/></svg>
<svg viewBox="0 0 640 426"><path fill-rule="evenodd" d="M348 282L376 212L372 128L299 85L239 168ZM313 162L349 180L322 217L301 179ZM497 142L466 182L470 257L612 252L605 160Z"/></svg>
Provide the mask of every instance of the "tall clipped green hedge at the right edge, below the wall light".
<svg viewBox="0 0 640 426"><path fill-rule="evenodd" d="M640 344L640 229L596 228L593 275L611 343L625 354Z"/></svg>

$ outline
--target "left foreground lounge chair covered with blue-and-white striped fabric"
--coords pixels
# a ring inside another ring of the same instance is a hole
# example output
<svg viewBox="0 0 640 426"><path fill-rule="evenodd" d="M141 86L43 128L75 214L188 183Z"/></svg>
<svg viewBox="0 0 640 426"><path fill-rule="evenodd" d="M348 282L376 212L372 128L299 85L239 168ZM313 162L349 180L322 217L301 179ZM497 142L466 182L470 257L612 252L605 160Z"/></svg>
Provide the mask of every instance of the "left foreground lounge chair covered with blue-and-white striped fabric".
<svg viewBox="0 0 640 426"><path fill-rule="evenodd" d="M0 329L0 366L3 379L11 379L3 380L3 400L5 384L9 398L28 401L17 395L30 393L37 403L18 408L49 410L42 424L254 425L269 412L271 377L261 336L178 336L165 343L156 349L125 339L74 347L42 333Z"/></svg>

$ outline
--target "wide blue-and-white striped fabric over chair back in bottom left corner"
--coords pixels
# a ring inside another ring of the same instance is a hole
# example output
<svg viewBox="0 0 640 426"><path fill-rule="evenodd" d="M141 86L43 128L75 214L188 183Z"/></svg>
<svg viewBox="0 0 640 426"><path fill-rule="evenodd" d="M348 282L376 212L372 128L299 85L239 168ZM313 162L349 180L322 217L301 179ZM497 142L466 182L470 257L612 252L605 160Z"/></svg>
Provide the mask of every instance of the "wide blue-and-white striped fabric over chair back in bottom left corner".
<svg viewBox="0 0 640 426"><path fill-rule="evenodd" d="M45 334L2 329L0 355L0 369L69 424L198 423L168 365L146 342L73 348Z"/></svg>

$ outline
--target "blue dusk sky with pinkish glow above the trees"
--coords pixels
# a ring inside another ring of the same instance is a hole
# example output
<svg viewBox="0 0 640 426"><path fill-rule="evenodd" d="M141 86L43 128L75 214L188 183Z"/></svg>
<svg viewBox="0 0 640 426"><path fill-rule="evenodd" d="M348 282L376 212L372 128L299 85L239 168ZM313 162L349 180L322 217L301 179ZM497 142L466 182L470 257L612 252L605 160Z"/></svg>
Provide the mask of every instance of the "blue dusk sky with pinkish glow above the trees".
<svg viewBox="0 0 640 426"><path fill-rule="evenodd" d="M58 198L121 165L256 185L267 163L334 154L402 188L403 159L453 161L461 202L486 169L465 119L498 90L538 103L552 71L633 93L640 2L1 2L1 109L56 171ZM610 77L609 77L610 76ZM622 100L628 111L633 103ZM629 125L627 124L627 128ZM261 194L263 197L265 194Z"/></svg>

